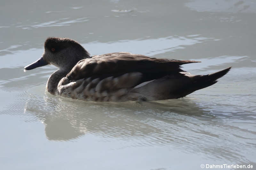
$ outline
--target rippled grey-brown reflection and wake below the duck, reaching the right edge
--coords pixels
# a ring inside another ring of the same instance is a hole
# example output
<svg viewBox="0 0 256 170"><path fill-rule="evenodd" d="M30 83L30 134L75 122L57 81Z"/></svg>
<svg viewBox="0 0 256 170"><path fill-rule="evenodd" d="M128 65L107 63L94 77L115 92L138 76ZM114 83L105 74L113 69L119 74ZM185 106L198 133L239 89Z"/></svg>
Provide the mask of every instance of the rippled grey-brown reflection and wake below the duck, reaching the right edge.
<svg viewBox="0 0 256 170"><path fill-rule="evenodd" d="M225 123L225 115L216 117L210 106L195 101L186 97L156 102L85 102L46 93L43 98L31 96L24 112L44 123L49 140L94 135L103 141L122 141L122 147L169 145L182 152L205 153L210 159L248 162L244 155L250 149L233 148L240 147L238 139L254 148L250 137L254 132Z"/></svg>

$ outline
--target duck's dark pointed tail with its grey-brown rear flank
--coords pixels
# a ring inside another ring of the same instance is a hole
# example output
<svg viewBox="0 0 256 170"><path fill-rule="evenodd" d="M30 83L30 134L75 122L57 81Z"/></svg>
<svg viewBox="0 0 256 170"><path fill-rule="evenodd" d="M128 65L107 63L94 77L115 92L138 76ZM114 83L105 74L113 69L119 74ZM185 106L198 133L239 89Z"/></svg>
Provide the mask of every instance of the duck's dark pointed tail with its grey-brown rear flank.
<svg viewBox="0 0 256 170"><path fill-rule="evenodd" d="M228 67L207 75L165 76L136 88L132 92L140 94L145 100L177 99L217 83L217 79L227 74L230 69L231 67Z"/></svg>

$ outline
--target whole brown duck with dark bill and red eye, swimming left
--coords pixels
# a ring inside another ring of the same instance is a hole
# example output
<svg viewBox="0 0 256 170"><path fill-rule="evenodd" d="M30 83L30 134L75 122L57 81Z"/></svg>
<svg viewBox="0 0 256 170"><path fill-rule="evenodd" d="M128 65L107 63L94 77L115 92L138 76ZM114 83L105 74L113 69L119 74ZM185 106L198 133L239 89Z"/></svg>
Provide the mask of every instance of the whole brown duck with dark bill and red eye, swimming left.
<svg viewBox="0 0 256 170"><path fill-rule="evenodd" d="M178 99L217 83L231 67L207 75L192 75L181 65L198 61L159 59L129 52L90 56L77 41L48 37L44 52L24 71L52 64L48 78L53 95L93 101Z"/></svg>

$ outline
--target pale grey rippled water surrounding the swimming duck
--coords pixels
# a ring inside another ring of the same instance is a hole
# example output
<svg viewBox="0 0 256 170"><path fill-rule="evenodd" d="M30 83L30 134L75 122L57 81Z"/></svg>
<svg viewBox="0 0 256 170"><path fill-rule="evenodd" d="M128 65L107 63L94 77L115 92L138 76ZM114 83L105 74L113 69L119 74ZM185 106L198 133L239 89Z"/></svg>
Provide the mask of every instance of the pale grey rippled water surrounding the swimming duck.
<svg viewBox="0 0 256 170"><path fill-rule="evenodd" d="M1 169L255 169L255 1L1 1L0 11ZM45 91L54 66L23 72L48 36L91 55L202 61L184 65L193 74L233 68L182 99L66 99Z"/></svg>

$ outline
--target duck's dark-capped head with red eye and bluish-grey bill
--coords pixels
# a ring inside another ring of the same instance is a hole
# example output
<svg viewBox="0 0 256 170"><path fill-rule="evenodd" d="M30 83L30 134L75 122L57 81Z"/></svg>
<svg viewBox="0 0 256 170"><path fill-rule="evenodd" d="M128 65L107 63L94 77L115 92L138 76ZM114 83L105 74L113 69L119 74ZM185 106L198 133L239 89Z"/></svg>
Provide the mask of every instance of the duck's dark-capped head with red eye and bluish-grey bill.
<svg viewBox="0 0 256 170"><path fill-rule="evenodd" d="M52 64L61 70L71 70L75 64L90 57L89 53L76 41L69 38L49 37L44 42L44 53L24 70L32 70Z"/></svg>

